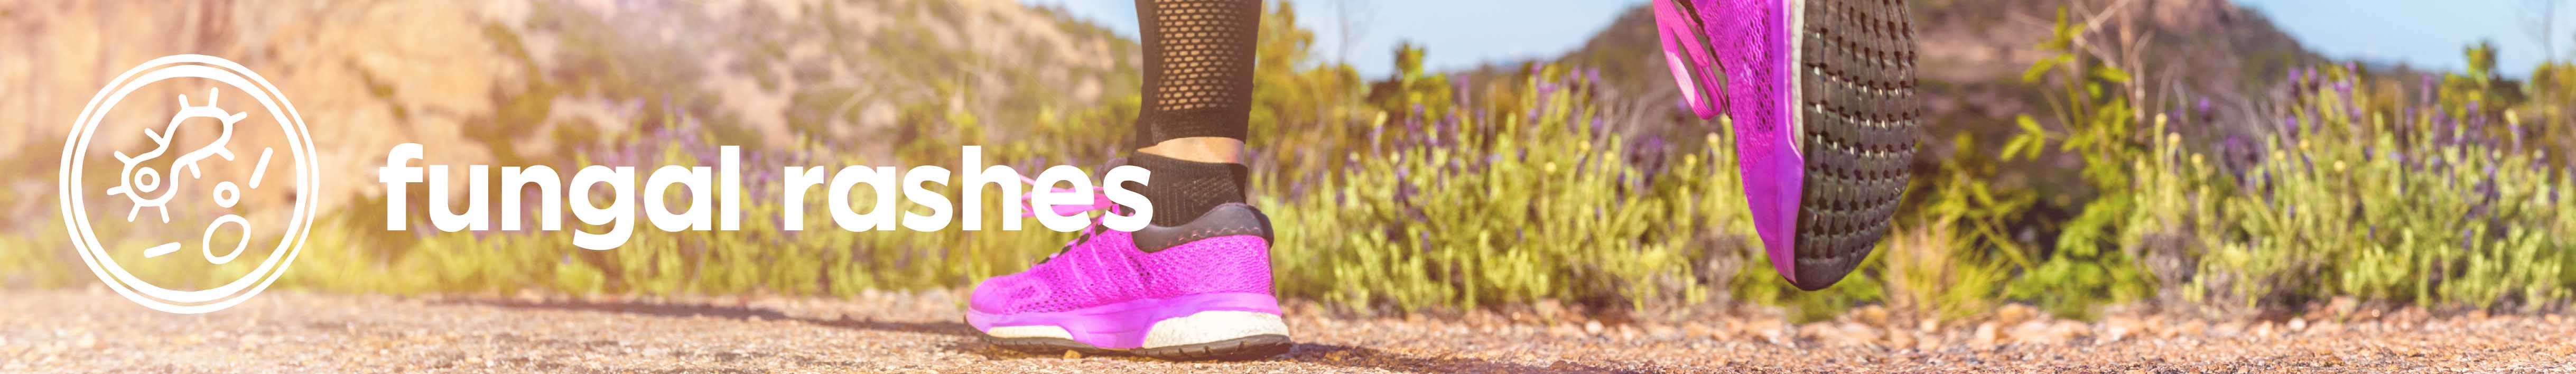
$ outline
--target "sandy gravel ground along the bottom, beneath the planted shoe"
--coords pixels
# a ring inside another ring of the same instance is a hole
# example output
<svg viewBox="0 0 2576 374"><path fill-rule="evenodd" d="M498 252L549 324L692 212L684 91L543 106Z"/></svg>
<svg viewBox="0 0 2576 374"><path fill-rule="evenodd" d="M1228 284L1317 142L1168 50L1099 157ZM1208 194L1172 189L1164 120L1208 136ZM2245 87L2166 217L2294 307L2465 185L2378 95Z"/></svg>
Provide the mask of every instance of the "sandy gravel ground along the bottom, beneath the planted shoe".
<svg viewBox="0 0 2576 374"><path fill-rule="evenodd" d="M165 315L95 289L0 291L0 371L2576 371L2576 328L2555 315L1917 330L1850 317L1597 328L1293 312L1298 346L1285 356L1172 364L999 351L956 310L953 291L696 302L270 291L214 315Z"/></svg>

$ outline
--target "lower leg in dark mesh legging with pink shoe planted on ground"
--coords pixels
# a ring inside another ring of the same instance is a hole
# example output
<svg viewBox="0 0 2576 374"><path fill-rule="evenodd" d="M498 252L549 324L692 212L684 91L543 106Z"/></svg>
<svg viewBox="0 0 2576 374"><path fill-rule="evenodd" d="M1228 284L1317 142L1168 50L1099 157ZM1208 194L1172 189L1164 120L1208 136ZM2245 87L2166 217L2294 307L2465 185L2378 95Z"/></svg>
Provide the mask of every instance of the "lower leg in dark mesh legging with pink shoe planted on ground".
<svg viewBox="0 0 2576 374"><path fill-rule="evenodd" d="M1151 224L1092 230L1023 273L987 279L966 322L1020 351L1154 359L1285 353L1270 219L1244 204L1260 0L1136 0L1144 108L1126 165Z"/></svg>

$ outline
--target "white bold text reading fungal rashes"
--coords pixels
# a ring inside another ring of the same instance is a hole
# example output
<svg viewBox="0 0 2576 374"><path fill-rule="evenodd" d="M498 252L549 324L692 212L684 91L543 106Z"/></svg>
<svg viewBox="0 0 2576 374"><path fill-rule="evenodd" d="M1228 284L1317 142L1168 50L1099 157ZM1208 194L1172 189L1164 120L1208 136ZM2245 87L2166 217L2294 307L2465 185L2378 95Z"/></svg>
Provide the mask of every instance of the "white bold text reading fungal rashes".
<svg viewBox="0 0 2576 374"><path fill-rule="evenodd" d="M716 160L716 168L662 165L644 178L639 178L636 168L631 165L616 165L616 168L587 165L582 170L574 170L569 181L564 181L559 170L546 165L500 168L497 175L489 170L489 165L466 165L464 212L456 212L448 204L453 199L448 196L451 193L448 183L453 183L448 181L448 165L428 165L428 168L410 165L412 160L422 157L420 144L412 142L394 144L394 150L384 155L384 168L376 168L376 181L384 183L384 230L397 230L397 232L410 230L410 204L404 201L404 196L410 196L412 183L428 183L430 188L428 191L430 227L438 227L440 232L495 230L492 227L495 214L487 206L492 199L492 188L497 186L500 191L505 191L500 193L497 230L523 230L526 222L533 222L536 230L549 230L549 232L564 230L562 214L564 206L569 206L574 219L595 227L595 230L572 230L572 245L590 250L611 250L626 245L626 237L634 235L636 212L644 212L644 219L652 222L654 230L665 232L739 230L742 150L719 147L719 152L721 155ZM1030 217L1028 212L1030 206L1038 206L1033 217L1038 217L1038 224L1043 224L1046 230L1056 232L1084 230L1090 227L1092 219L1090 212L1064 214L1059 209L1046 209L1046 206L1084 206L1100 201L1103 196L1118 206L1131 209L1126 214L1100 217L1103 227L1133 232L1144 230L1144 224L1154 219L1154 204L1146 201L1141 193L1128 191L1128 183L1133 186L1146 183L1149 173L1144 168L1133 165L1110 168L1108 175L1103 175L1100 188L1092 188L1092 178L1082 168L1054 165L1038 173L1036 186L1025 186L1020 173L1012 170L1010 165L984 165L981 147L969 144L958 152L963 170L974 170L958 175L963 178L963 183L958 183L956 188L963 193L963 201L969 204L953 204L945 193L940 193L948 191L945 186L951 186L958 178L951 178L953 173L938 165L917 165L902 173L896 173L896 168L891 165L878 165L878 168L850 165L837 170L786 168L778 183L783 188L778 193L781 230L791 232L804 230L806 209L829 209L832 224L850 232L894 230L896 224L914 232L935 232L945 230L951 222L966 222L963 230L974 232L984 230L984 204L974 201L984 201L987 186L997 186L1002 191L999 199L1010 201L1002 204L1002 214L1007 214L1002 219L1002 230L1020 230L1018 217ZM492 178L500 178L500 183L489 183ZM639 191L636 183L641 183L644 188ZM605 201L598 201L600 196L590 191L603 186L608 188L608 193ZM1051 186L1072 186L1072 188L1051 188ZM531 212L520 206L526 204L523 199L531 196L523 193L526 188L538 191L533 193L533 199L538 199L538 206L533 209L536 217L523 217L523 212ZM868 201L871 204L868 212L853 209L855 204L860 204L853 201L853 193L860 188L873 191L876 196L873 201ZM688 209L672 212L672 206L665 204L670 193L688 193L685 196L690 201ZM806 206L806 193L827 193L824 206ZM927 206L930 214L899 209L899 204L894 201L896 196L917 206ZM1023 196L1028 199L1028 206L1018 204ZM641 209L636 204L641 204ZM963 219L958 219L958 206L963 206Z"/></svg>

